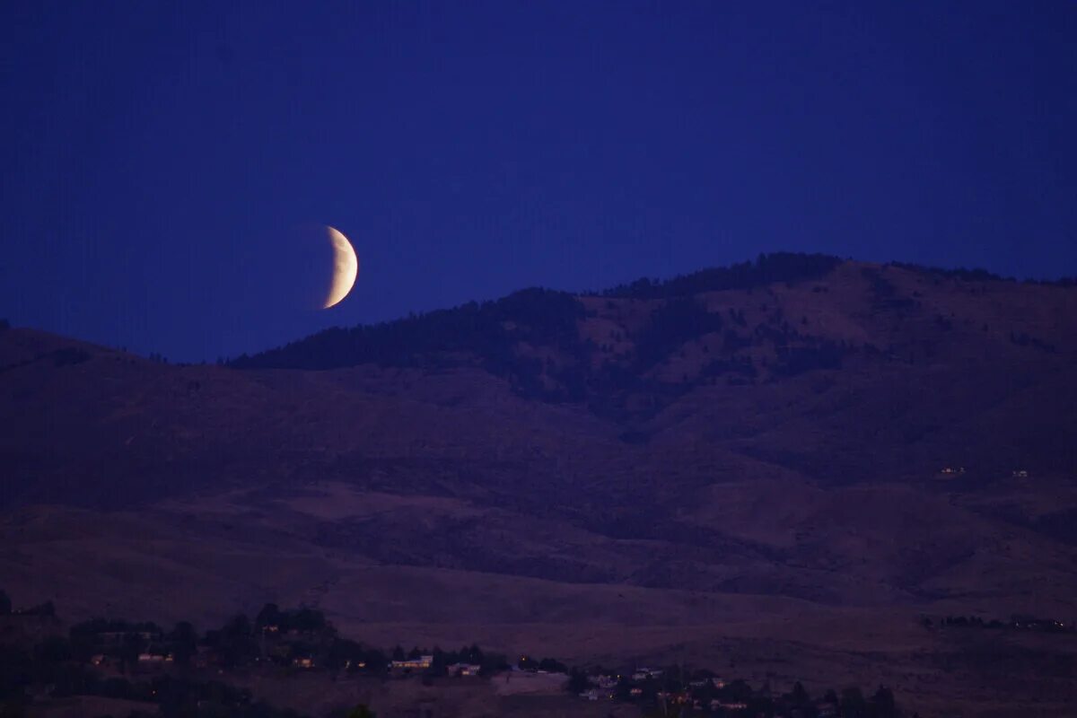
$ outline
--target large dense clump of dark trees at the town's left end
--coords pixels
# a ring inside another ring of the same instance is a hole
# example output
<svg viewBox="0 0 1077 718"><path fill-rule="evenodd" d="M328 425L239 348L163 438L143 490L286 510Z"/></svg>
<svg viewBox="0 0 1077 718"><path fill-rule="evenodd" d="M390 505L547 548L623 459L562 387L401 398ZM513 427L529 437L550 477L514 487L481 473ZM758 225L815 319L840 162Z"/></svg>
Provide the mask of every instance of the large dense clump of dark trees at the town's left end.
<svg viewBox="0 0 1077 718"><path fill-rule="evenodd" d="M11 597L0 590L0 615L54 616L52 604L48 611L13 610ZM38 607L40 608L40 607ZM261 639L260 634L269 625L272 632L289 638ZM0 716L3 718L25 716L31 704L31 687L47 687L54 698L74 695L100 695L152 703L157 710L144 716L135 712L128 718L303 718L294 710L281 710L252 700L250 690L219 680L201 680L185 671L156 673L152 677L137 678L126 675L102 675L93 667L92 659L103 656L115 661L121 674L126 667L137 663L143 652L165 653L172 657L172 664L183 668L191 665L200 646L213 653L219 665L238 665L261 659L262 647L270 648L304 640L317 645L324 657L324 664L331 668L365 663L373 672L384 672L387 658L381 651L365 648L360 644L336 636L333 627L321 611L300 607L280 610L267 604L260 611L255 622L238 615L222 628L207 631L199 637L195 628L180 621L171 630L152 621L124 621L93 619L76 623L68 630L68 635L45 635L32 645L15 643L0 644ZM460 652L443 653L449 663L460 656L489 660L477 646ZM267 651L266 658L274 660L279 654ZM365 706L341 709L339 718L375 718Z"/></svg>

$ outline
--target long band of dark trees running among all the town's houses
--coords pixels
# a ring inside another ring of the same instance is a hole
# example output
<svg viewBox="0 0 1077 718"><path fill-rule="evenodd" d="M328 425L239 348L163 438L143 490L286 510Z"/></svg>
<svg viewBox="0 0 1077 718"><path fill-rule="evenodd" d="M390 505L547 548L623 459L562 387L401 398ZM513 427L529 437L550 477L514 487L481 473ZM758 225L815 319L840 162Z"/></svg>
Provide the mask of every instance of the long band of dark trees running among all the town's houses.
<svg viewBox="0 0 1077 718"><path fill-rule="evenodd" d="M11 613L11 600L0 590L0 614ZM959 621L948 617L946 620ZM1015 619L1017 620L1017 619ZM1037 619L1027 619L1037 620ZM249 690L216 681L200 680L186 672L155 674L145 679L124 676L102 677L89 666L95 654L106 654L121 661L135 661L146 650L168 650L174 664L188 665L199 647L208 648L219 665L241 665L252 661L290 660L294 656L312 658L317 665L332 671L348 668L366 670L383 674L388 661L417 659L432 656L432 664L424 672L426 677L445 675L448 666L467 663L481 666L481 672L492 673L509 667L504 656L482 651L478 646L464 646L459 650L438 647L419 647L405 651L397 646L389 656L365 647L354 640L340 638L324 615L316 609L299 607L282 610L276 604L266 604L253 621L238 615L220 629L207 631L199 637L194 627L181 621L166 631L153 622L130 622L95 619L72 625L67 636L50 635L31 647L0 645L0 706L20 715L29 704L31 686L50 686L57 698L71 695L103 695L156 704L159 715L166 718L200 718L228 715L239 718L299 718L290 710L279 710L252 700ZM280 650L280 649L286 650ZM754 690L742 680L721 684L712 680L714 673L705 670L687 671L670 667L635 680L629 672L592 668L585 673L570 670L553 658L522 656L516 666L522 671L546 671L569 674L569 690L583 692L592 684L592 676L618 677L612 691L616 698L643 702L700 708L712 715L727 715L730 709L712 701L729 705L744 704L746 708L731 708L731 715L774 716L799 712L803 718L819 715L820 704L833 704L844 718L898 718L893 693L879 688L871 698L865 698L858 688L849 688L840 696L828 691L821 701L813 701L800 684L785 694L774 695L767 686ZM426 678L424 678L426 679ZM3 714L6 716L8 714ZM340 718L374 718L365 706L339 712ZM132 717L139 718L139 717Z"/></svg>

